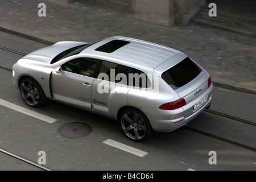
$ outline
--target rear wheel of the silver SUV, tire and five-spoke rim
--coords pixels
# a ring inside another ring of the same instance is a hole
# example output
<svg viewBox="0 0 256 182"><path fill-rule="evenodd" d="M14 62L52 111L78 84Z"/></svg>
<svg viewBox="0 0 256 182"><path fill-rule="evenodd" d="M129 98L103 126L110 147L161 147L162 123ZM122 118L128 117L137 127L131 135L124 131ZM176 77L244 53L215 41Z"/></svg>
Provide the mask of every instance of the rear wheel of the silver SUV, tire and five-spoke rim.
<svg viewBox="0 0 256 182"><path fill-rule="evenodd" d="M153 130L146 115L134 108L126 109L119 119L123 133L136 142L148 139Z"/></svg>

